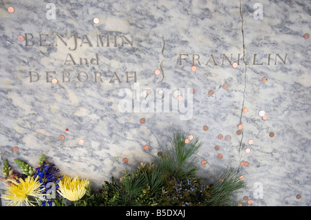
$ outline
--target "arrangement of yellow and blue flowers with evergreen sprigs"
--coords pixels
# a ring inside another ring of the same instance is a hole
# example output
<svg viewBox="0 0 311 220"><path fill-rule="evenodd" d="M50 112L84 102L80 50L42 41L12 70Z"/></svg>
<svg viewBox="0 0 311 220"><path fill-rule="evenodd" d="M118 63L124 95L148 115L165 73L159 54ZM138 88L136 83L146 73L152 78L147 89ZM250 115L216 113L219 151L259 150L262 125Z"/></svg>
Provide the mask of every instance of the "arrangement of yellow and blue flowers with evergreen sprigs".
<svg viewBox="0 0 311 220"><path fill-rule="evenodd" d="M15 159L23 174L3 162L1 181L8 183L1 197L8 206L232 206L233 193L245 187L233 168L220 172L218 181L207 186L196 177L196 159L202 143L185 141L186 134L176 133L171 147L155 157L155 163L140 163L137 170L123 172L115 181L104 181L98 192L91 181L59 174L60 170L39 159L32 168ZM52 192L52 194L51 194Z"/></svg>

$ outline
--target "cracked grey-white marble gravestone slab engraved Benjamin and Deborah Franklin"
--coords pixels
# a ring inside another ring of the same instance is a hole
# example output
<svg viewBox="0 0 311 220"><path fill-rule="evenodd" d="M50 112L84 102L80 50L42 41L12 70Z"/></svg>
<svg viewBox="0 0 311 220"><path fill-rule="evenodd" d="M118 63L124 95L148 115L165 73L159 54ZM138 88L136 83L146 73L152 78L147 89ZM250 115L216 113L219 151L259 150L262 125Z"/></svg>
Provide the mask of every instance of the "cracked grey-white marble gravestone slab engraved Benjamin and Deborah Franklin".
<svg viewBox="0 0 311 220"><path fill-rule="evenodd" d="M46 154L97 189L182 130L205 181L243 174L243 206L310 206L309 0L0 6L1 163Z"/></svg>

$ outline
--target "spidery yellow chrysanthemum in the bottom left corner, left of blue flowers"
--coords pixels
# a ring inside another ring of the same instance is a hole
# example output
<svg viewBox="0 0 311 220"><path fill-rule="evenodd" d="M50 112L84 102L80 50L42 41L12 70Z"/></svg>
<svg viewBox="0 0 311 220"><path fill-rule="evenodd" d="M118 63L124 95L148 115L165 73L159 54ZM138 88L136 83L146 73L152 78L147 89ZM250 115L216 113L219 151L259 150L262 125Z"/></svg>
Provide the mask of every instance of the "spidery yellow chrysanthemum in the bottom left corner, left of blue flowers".
<svg viewBox="0 0 311 220"><path fill-rule="evenodd" d="M7 201L8 206L34 206L38 200L44 200L42 191L44 188L40 188L41 183L37 181L39 177L34 179L33 177L27 177L25 180L19 178L19 183L16 180L10 179L14 184L7 187L7 190L2 199ZM37 201L31 201L30 197L34 197Z"/></svg>

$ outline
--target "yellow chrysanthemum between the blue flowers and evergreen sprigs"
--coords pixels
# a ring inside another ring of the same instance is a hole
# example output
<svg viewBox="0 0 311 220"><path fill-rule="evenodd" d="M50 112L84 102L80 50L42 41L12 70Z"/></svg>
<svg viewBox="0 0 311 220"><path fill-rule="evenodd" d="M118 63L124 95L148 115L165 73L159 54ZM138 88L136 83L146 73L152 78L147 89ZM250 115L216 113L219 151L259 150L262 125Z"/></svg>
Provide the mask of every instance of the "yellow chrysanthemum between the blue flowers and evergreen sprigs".
<svg viewBox="0 0 311 220"><path fill-rule="evenodd" d="M71 179L68 176L64 176L58 183L59 190L57 192L70 201L77 201L84 196L89 184L90 181L88 179L80 180L79 177Z"/></svg>

